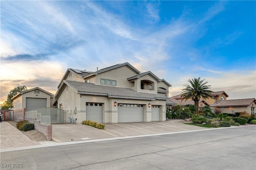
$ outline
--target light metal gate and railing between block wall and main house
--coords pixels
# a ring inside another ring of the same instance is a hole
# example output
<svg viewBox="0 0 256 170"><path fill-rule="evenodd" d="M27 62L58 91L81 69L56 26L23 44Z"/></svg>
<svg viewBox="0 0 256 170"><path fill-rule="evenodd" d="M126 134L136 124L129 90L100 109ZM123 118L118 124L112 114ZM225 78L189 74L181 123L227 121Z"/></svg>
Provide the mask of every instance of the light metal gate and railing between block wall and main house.
<svg viewBox="0 0 256 170"><path fill-rule="evenodd" d="M25 117L36 117L40 123L64 123L65 111L54 107L39 107L25 112Z"/></svg>

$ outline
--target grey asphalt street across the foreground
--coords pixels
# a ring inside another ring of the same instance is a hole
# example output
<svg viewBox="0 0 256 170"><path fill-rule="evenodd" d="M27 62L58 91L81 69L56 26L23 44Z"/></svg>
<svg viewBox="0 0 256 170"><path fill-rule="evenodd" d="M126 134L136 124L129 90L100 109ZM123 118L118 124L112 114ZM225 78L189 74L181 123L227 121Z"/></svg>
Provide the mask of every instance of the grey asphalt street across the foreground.
<svg viewBox="0 0 256 170"><path fill-rule="evenodd" d="M1 152L1 170L254 170L255 146L256 126L226 128Z"/></svg>

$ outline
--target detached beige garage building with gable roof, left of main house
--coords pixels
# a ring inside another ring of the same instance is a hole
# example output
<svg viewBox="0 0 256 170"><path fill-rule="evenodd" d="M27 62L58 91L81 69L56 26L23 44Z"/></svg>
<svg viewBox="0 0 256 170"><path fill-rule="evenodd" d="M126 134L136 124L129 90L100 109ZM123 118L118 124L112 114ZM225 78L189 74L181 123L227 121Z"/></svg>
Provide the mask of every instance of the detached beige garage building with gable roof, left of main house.
<svg viewBox="0 0 256 170"><path fill-rule="evenodd" d="M12 97L13 109L24 109L26 110L38 108L38 107L53 107L54 95L42 88L35 87L29 90L19 92Z"/></svg>

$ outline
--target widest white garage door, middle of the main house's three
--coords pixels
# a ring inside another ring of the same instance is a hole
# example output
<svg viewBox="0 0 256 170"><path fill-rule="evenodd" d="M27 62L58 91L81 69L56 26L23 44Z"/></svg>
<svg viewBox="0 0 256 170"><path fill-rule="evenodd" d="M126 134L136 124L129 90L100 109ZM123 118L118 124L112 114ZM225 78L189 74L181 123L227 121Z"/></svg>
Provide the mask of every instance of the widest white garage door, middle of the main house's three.
<svg viewBox="0 0 256 170"><path fill-rule="evenodd" d="M142 122L144 109L140 104L118 104L118 122Z"/></svg>

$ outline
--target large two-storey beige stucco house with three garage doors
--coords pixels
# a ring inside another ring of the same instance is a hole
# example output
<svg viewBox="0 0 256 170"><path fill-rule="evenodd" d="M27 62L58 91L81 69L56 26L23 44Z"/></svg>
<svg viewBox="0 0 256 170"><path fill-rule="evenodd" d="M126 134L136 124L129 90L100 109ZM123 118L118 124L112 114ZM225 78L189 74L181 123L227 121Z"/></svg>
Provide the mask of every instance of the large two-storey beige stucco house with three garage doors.
<svg viewBox="0 0 256 170"><path fill-rule="evenodd" d="M54 99L77 123L148 122L166 120L171 85L151 71L140 73L129 63L96 72L69 68Z"/></svg>

